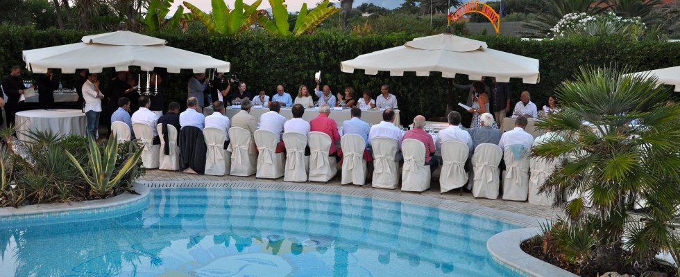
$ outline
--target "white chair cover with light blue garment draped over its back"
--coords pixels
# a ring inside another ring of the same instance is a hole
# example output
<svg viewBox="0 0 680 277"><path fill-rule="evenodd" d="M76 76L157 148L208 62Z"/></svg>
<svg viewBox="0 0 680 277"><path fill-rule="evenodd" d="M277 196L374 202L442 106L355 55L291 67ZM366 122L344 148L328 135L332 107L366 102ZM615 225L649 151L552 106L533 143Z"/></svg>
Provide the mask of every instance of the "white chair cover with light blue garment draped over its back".
<svg viewBox="0 0 680 277"><path fill-rule="evenodd" d="M529 150L525 145L510 145L503 158L503 200L527 201L529 195ZM517 152L520 159L516 159Z"/></svg>

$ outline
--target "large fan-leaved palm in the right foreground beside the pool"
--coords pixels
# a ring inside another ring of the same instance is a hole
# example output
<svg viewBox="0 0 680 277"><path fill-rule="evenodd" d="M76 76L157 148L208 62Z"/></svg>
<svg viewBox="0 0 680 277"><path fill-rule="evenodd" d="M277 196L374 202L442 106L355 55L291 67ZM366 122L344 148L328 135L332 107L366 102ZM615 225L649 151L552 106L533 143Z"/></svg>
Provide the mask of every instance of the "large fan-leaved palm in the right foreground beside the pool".
<svg viewBox="0 0 680 277"><path fill-rule="evenodd" d="M534 154L563 160L541 190L566 202L570 224L596 215L597 249L619 249L595 253L629 251L627 262L643 269L659 251L680 258L680 106L666 105L670 90L656 78L628 71L586 67L563 82L562 111L536 123L561 140Z"/></svg>

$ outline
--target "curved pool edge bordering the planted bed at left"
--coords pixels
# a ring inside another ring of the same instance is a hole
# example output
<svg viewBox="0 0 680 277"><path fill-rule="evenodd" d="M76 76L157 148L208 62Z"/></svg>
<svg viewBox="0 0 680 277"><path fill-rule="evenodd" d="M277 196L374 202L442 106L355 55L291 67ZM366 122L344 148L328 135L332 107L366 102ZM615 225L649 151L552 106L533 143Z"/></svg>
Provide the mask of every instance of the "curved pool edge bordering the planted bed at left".
<svg viewBox="0 0 680 277"><path fill-rule="evenodd" d="M107 218L141 211L148 205L149 189L139 182L135 182L132 189L138 194L125 192L101 200L0 208L0 224L3 228L17 224L31 226L33 224L46 224L52 220L65 220L67 222L91 220L90 215Z"/></svg>

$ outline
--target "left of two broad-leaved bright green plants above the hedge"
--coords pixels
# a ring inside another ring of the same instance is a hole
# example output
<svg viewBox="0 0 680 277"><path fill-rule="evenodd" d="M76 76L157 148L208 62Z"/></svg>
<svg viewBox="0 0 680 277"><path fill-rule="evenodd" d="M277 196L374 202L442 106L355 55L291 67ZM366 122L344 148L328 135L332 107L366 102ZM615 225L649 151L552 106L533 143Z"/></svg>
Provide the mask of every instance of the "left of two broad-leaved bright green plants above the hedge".
<svg viewBox="0 0 680 277"><path fill-rule="evenodd" d="M203 22L208 32L217 32L222 35L236 35L246 30L260 15L257 7L262 0L257 0L252 5L236 0L234 8L229 10L223 0L212 0L212 15L208 15L191 3L184 1L196 19Z"/></svg>

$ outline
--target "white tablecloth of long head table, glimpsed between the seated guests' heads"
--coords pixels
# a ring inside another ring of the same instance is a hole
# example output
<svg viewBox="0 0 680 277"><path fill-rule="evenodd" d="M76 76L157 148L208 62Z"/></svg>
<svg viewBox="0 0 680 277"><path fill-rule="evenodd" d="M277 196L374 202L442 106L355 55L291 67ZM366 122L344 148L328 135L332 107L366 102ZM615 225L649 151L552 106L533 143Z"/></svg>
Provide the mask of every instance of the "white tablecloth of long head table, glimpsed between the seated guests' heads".
<svg viewBox="0 0 680 277"><path fill-rule="evenodd" d="M229 107L225 109L224 114L228 118L232 118L232 116L237 114L239 111L241 111L241 109L232 109ZM250 114L255 116L255 118L257 118L257 122L260 123L260 116L262 116L262 114L266 113L267 111L269 111L269 109L250 109ZM279 112L282 116L285 116L286 119L293 118L293 113L290 108L281 108L281 111ZM206 116L212 114L212 107L205 107L203 109L203 114L205 114ZM314 109L305 109L303 119L309 122L312 119L316 118L316 116L318 116L318 111ZM338 126L340 126L342 125L342 122L344 120L350 119L350 109L343 109L342 111L330 111L329 117L335 120ZM378 124L380 123L380 121L382 121L382 111L380 111L379 109L362 111L362 120L366 121L366 123L368 124ZM401 125L399 120L399 111L395 111L394 125L396 125L397 127Z"/></svg>

